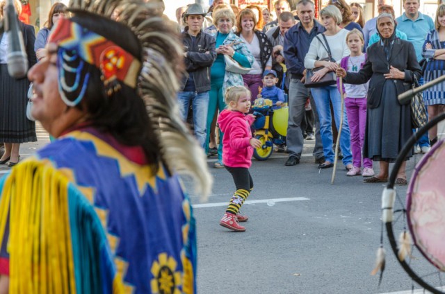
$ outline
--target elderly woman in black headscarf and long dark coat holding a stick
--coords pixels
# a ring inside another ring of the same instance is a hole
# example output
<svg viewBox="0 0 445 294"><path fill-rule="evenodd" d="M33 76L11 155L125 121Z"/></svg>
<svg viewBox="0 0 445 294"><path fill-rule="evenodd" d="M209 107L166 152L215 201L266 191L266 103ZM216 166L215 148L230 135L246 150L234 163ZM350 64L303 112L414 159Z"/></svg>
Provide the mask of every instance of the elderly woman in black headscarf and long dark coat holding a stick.
<svg viewBox="0 0 445 294"><path fill-rule="evenodd" d="M387 182L389 163L412 135L410 105L401 105L397 96L421 75L414 46L396 37L391 14L378 16L377 31L381 41L369 46L362 70L353 74L337 68L337 76L342 76L344 83L359 85L370 80L363 156L380 162L380 173L364 180L368 183ZM396 184L407 184L405 165L398 171Z"/></svg>

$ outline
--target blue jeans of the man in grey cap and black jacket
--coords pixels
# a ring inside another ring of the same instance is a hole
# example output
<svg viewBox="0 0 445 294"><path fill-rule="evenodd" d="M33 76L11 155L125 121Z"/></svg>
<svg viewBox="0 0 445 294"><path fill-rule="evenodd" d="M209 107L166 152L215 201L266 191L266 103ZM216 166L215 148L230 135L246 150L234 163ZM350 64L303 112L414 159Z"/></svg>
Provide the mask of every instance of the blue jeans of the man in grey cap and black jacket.
<svg viewBox="0 0 445 294"><path fill-rule="evenodd" d="M209 91L206 92L179 92L179 111L184 121L187 119L190 103L193 109L193 128L195 137L202 148L207 142L207 108L209 108Z"/></svg>

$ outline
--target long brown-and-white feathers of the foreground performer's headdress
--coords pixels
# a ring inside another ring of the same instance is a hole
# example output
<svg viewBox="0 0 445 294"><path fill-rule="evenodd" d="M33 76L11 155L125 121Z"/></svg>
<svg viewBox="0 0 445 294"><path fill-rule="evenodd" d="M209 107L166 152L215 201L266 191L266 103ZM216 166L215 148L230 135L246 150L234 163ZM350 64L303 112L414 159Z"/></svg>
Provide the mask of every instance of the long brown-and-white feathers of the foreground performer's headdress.
<svg viewBox="0 0 445 294"><path fill-rule="evenodd" d="M183 48L175 28L161 17L162 10L159 8L160 3L135 0L70 1L70 10L74 15L76 10L85 10L111 18L113 12L118 10L116 21L128 26L138 37L143 60L140 71L137 71L135 86L159 137L163 162L170 171L191 177L195 183L195 193L205 198L211 191L212 182L206 157L181 121L177 103L179 77L184 71ZM109 76L106 76L107 73ZM119 87L113 83L113 71L102 71L102 74L104 82L109 84L108 90L118 91ZM124 83L124 78L118 77L117 80Z"/></svg>

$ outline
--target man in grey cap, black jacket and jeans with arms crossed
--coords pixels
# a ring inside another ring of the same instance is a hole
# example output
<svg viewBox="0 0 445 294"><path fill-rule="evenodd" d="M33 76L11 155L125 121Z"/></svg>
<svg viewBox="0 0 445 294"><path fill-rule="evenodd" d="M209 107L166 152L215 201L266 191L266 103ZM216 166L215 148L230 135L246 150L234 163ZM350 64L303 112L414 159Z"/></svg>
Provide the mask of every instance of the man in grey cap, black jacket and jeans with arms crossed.
<svg viewBox="0 0 445 294"><path fill-rule="evenodd" d="M201 29L205 15L206 12L199 4L188 6L185 12L187 26L182 37L187 74L184 76L182 91L178 94L179 109L184 121L190 105L192 107L195 137L203 148L207 140L210 67L216 59L215 38Z"/></svg>

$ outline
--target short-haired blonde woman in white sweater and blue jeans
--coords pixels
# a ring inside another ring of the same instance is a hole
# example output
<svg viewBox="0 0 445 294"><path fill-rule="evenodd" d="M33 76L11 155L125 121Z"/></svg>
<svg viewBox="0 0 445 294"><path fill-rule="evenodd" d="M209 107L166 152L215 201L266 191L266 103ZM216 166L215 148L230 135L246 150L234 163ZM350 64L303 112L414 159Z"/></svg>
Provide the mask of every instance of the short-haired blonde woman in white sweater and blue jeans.
<svg viewBox="0 0 445 294"><path fill-rule="evenodd" d="M350 55L348 46L346 45L346 35L348 31L340 28L341 12L335 6L327 6L320 12L321 22L326 28L325 33L314 37L309 51L305 57L305 68L314 69L316 67L324 67L316 71L312 76L312 81L316 82L323 78L330 71L335 71L341 58ZM327 44L326 44L327 42ZM329 57L328 51L331 52L331 61L323 60ZM349 126L346 119L346 110L341 114L341 96L337 85L315 87L311 89L312 96L317 106L318 117L320 119L320 134L323 141L323 153L325 162L318 165L318 168L330 168L334 166L334 152L332 150L332 123L330 103L334 109L334 119L339 128L340 118L343 115L343 128L341 130L340 144L343 153L343 164L346 170L353 168L353 156L350 152L350 135Z"/></svg>

